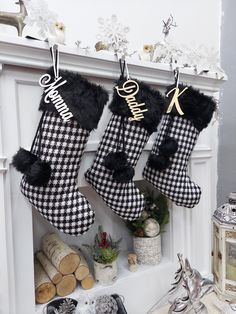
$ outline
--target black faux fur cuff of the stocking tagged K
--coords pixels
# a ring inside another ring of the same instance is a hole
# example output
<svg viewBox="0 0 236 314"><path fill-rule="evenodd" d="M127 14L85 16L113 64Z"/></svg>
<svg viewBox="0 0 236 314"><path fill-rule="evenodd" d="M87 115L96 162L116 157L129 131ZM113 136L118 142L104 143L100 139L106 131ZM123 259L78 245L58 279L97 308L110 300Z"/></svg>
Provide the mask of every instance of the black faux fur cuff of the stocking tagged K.
<svg viewBox="0 0 236 314"><path fill-rule="evenodd" d="M167 88L166 94L174 88L175 85L171 85ZM180 91L182 91L186 85L179 85ZM206 128L211 121L214 111L216 110L216 103L212 97L206 96L199 90L187 86L188 89L179 97L179 103L184 115L184 119L190 120L198 131ZM171 93L168 99L171 100L173 93ZM170 101L168 101L169 104ZM171 114L178 115L175 106L171 111Z"/></svg>

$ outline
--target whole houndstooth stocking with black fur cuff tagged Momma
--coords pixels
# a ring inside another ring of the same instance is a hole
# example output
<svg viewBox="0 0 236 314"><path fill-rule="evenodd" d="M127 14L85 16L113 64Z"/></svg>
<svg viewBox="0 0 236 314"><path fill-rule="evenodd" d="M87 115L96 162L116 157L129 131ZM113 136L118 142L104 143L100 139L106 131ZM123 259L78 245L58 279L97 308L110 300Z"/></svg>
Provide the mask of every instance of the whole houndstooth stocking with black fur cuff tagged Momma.
<svg viewBox="0 0 236 314"><path fill-rule="evenodd" d="M52 69L48 74L48 84L53 84ZM29 202L54 227L77 236L94 222L94 211L79 192L77 178L90 131L97 127L108 94L77 73L60 71L60 77L66 83L57 88L57 108L66 104L73 117L63 120L62 111L55 108L55 90L49 103L43 95L39 108L43 114L31 151L21 148L13 164L24 174L21 191Z"/></svg>

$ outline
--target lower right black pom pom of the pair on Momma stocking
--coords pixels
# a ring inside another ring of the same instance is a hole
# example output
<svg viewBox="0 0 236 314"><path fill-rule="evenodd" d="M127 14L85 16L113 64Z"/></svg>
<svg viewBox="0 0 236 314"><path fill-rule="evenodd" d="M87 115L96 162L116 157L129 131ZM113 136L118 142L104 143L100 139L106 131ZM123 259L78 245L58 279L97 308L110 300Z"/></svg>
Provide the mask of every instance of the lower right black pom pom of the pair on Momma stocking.
<svg viewBox="0 0 236 314"><path fill-rule="evenodd" d="M33 186L46 186L50 176L50 165L41 160L37 160L25 173L26 181Z"/></svg>

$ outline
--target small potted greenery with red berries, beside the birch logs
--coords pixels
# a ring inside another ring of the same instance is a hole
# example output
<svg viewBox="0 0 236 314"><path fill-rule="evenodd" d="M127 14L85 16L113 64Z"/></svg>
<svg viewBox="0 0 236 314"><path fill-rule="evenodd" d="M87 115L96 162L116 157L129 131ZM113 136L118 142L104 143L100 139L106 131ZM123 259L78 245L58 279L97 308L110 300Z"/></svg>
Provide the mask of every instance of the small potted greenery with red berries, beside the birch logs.
<svg viewBox="0 0 236 314"><path fill-rule="evenodd" d="M117 279L117 258L121 239L114 241L102 226L98 227L93 245L84 245L94 261L95 279L101 285L111 285Z"/></svg>

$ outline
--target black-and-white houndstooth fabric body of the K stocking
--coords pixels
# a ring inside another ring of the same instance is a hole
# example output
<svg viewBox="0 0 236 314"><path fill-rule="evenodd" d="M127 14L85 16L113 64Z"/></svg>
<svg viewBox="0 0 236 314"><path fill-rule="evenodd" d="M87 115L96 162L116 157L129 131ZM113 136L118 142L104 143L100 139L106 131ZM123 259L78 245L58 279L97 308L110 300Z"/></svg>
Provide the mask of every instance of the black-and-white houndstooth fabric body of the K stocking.
<svg viewBox="0 0 236 314"><path fill-rule="evenodd" d="M163 117L152 154L158 154L158 146L165 136L169 119L169 115ZM201 198L201 189L187 175L187 166L199 131L189 120L175 116L168 135L178 142L178 151L170 157L171 165L163 171L157 171L149 167L147 163L143 177L177 205L192 208Z"/></svg>

